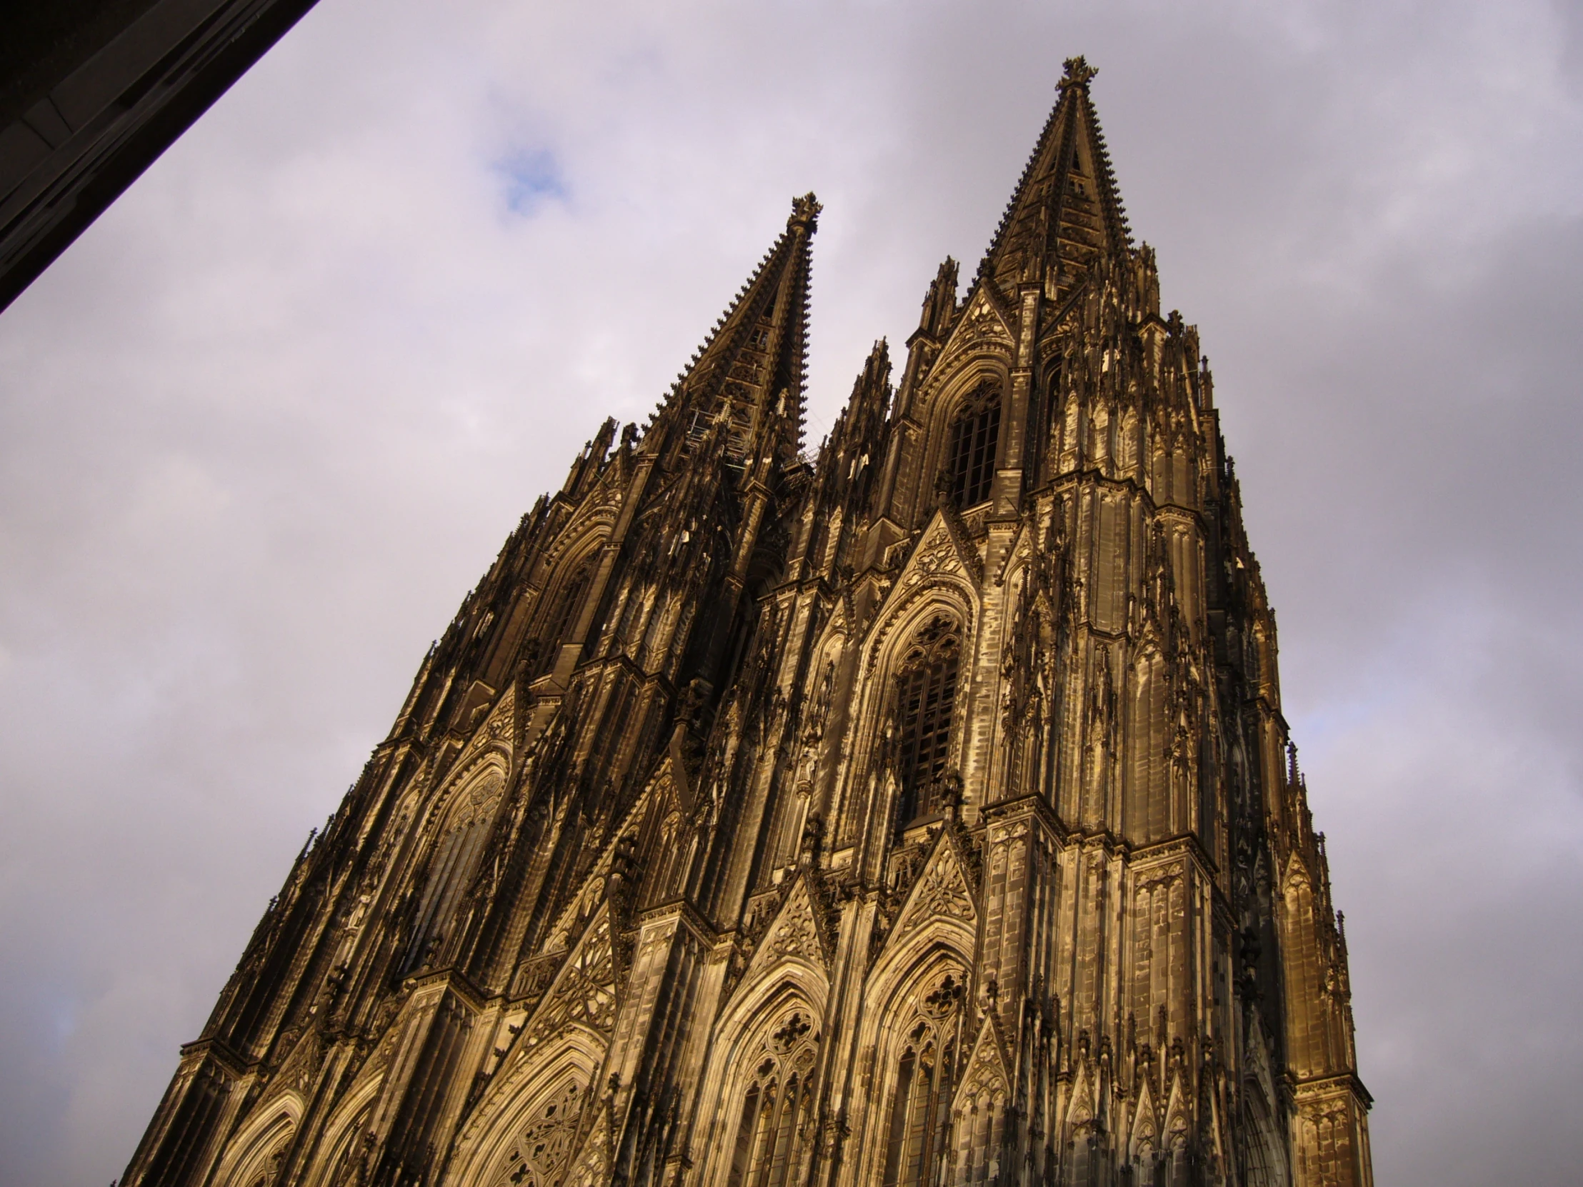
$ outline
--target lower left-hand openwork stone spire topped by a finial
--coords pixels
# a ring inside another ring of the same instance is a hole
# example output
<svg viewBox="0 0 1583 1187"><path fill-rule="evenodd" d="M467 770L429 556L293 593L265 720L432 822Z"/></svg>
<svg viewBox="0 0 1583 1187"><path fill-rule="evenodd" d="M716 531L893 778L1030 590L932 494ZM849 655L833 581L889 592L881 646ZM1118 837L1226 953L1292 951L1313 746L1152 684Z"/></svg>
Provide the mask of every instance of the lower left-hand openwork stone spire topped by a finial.
<svg viewBox="0 0 1583 1187"><path fill-rule="evenodd" d="M807 374L809 245L820 209L812 193L792 201L787 229L678 377L659 415L681 437L670 445L689 448L723 421L730 454L746 461L755 443L768 440L779 462L796 457Z"/></svg>

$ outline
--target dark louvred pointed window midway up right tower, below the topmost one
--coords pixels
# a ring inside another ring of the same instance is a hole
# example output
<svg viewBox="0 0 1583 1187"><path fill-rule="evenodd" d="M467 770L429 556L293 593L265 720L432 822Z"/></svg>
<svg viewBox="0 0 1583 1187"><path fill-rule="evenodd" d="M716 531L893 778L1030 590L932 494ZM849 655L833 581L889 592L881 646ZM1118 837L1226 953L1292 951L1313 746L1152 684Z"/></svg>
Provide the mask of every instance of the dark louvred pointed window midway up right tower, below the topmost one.
<svg viewBox="0 0 1583 1187"><path fill-rule="evenodd" d="M956 624L936 617L913 638L896 679L901 780L899 823L939 812L940 779L951 750L951 711L961 635Z"/></svg>

